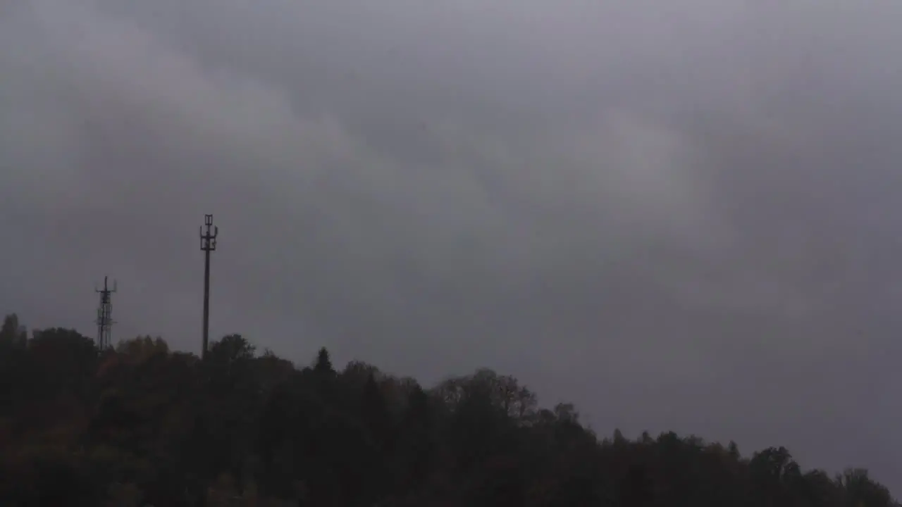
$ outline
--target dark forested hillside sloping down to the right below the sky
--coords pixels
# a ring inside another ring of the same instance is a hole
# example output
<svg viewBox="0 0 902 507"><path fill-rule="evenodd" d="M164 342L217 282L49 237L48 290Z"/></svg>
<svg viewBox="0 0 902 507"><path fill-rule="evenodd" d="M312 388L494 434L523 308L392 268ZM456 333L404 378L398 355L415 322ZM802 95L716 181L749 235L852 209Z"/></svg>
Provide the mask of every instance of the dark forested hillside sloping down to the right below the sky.
<svg viewBox="0 0 902 507"><path fill-rule="evenodd" d="M805 470L785 447L603 437L488 369L427 388L239 335L201 360L9 315L0 386L4 507L899 505L866 470Z"/></svg>

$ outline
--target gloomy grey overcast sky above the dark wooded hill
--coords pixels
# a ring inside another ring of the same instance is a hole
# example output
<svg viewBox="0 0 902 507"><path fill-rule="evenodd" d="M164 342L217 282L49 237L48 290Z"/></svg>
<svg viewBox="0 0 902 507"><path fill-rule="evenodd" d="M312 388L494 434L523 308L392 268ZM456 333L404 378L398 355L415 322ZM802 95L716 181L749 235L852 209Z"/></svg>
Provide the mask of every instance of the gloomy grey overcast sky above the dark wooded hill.
<svg viewBox="0 0 902 507"><path fill-rule="evenodd" d="M7 0L0 311L489 366L902 489L902 4ZM895 483L893 482L895 480Z"/></svg>

